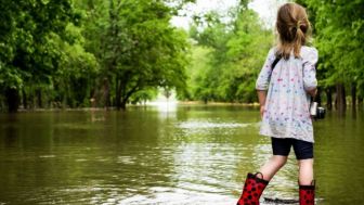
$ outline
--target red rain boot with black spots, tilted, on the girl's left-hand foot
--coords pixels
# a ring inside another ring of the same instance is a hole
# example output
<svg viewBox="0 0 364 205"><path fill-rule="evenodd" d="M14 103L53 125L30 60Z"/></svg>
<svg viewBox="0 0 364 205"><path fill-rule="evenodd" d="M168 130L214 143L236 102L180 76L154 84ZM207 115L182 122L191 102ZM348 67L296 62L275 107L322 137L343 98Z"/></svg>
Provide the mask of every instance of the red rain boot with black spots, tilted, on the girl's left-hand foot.
<svg viewBox="0 0 364 205"><path fill-rule="evenodd" d="M242 196L236 205L259 205L259 198L269 181L258 178L257 175L261 175L263 178L261 172L257 172L256 175L248 174Z"/></svg>

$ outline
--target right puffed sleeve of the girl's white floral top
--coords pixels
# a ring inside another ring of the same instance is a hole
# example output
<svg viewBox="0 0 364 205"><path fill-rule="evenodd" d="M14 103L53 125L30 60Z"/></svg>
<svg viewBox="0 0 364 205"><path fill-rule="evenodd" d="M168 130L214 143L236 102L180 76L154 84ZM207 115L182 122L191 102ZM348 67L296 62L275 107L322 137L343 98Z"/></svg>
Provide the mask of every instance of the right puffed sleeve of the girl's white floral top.
<svg viewBox="0 0 364 205"><path fill-rule="evenodd" d="M318 61L318 52L315 48L308 48L308 50L302 53L303 88L307 91L317 87L317 79L316 79L317 61Z"/></svg>

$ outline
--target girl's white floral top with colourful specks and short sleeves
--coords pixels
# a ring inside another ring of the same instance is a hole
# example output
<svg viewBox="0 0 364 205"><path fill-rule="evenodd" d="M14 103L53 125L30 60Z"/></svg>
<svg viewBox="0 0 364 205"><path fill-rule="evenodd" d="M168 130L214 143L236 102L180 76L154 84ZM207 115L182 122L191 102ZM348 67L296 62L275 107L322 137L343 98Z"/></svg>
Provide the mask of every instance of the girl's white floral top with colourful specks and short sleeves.
<svg viewBox="0 0 364 205"><path fill-rule="evenodd" d="M314 142L307 90L317 86L317 59L316 49L302 47L299 59L291 54L272 71L275 48L269 51L256 84L257 90L268 90L260 134Z"/></svg>

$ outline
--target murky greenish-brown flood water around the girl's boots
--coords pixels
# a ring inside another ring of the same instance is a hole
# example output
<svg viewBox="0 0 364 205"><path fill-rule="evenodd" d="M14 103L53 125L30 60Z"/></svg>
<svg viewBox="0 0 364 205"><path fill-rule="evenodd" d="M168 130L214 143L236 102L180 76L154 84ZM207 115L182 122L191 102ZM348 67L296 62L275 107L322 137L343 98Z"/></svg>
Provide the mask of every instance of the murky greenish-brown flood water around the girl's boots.
<svg viewBox="0 0 364 205"><path fill-rule="evenodd" d="M0 204L236 204L270 156L259 112L181 105L0 115ZM364 204L364 115L315 123L317 204ZM298 198L297 165L265 197ZM262 198L261 204L268 204Z"/></svg>

